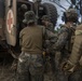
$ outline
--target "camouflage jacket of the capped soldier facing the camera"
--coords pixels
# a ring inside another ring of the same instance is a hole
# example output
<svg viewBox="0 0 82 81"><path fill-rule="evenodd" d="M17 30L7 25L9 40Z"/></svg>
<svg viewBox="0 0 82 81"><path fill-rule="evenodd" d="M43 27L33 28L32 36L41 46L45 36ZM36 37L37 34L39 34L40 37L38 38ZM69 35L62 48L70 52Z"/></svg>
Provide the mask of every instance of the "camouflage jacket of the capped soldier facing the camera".
<svg viewBox="0 0 82 81"><path fill-rule="evenodd" d="M56 35L54 33L54 27L52 23L49 23L47 27L45 27L45 49L49 53L54 52L53 44L57 40Z"/></svg>

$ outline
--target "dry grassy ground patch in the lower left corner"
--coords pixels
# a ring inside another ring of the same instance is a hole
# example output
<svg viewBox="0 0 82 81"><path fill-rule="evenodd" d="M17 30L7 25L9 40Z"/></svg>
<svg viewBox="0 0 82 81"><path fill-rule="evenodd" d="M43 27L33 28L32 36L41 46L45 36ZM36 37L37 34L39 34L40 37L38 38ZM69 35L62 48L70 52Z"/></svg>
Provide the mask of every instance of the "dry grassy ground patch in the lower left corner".
<svg viewBox="0 0 82 81"><path fill-rule="evenodd" d="M15 71L11 69L12 59L0 58L0 81L12 81L15 77Z"/></svg>

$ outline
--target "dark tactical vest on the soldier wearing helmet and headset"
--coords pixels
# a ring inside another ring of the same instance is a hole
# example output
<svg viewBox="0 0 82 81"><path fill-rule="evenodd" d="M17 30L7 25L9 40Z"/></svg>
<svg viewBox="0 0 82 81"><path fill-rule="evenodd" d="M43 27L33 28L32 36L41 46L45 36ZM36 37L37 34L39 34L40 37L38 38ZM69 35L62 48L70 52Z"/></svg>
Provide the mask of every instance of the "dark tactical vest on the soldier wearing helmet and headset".
<svg viewBox="0 0 82 81"><path fill-rule="evenodd" d="M67 40L66 40L66 44L64 44L60 52L62 52L62 57L64 59L67 59L70 56L70 53L71 53L71 50L72 50L72 45L73 45L72 37L74 36L74 29L72 29L72 27L66 27L65 26L65 30L67 31L68 37L67 37Z"/></svg>

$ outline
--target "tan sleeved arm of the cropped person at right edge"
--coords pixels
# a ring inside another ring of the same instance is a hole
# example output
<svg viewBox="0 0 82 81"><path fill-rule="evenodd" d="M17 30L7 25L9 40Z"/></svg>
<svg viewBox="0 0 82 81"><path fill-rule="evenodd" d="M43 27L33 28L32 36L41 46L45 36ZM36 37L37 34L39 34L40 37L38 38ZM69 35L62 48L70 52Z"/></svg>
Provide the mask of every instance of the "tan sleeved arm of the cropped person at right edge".
<svg viewBox="0 0 82 81"><path fill-rule="evenodd" d="M78 64L82 56L82 25L76 30L76 38L69 62L73 65ZM82 59L81 63L82 65Z"/></svg>

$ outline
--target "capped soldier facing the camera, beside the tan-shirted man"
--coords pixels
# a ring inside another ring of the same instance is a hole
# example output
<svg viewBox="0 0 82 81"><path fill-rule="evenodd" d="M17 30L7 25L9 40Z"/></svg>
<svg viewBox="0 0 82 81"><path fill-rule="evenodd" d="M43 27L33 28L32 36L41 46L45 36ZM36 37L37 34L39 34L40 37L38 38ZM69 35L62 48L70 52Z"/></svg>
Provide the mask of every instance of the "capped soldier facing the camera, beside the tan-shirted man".
<svg viewBox="0 0 82 81"><path fill-rule="evenodd" d="M42 16L42 23L43 26L45 27L45 41L46 41L46 46L49 48L47 50L50 50L49 52L52 52L52 45L54 44L54 42L56 41L56 35L53 32L54 31L54 26L53 24L50 22L50 17L49 15L43 15ZM50 44L50 45L49 45Z"/></svg>

